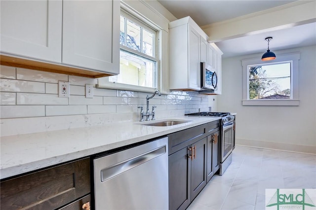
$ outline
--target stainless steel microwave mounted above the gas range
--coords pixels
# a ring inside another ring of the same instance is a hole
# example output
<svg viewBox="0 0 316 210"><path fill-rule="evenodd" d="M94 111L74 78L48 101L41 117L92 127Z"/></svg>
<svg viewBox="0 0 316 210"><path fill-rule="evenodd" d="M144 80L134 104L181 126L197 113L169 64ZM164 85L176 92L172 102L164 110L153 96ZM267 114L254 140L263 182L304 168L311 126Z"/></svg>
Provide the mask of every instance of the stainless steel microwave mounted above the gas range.
<svg viewBox="0 0 316 210"><path fill-rule="evenodd" d="M216 71L205 62L201 62L201 89L217 90Z"/></svg>

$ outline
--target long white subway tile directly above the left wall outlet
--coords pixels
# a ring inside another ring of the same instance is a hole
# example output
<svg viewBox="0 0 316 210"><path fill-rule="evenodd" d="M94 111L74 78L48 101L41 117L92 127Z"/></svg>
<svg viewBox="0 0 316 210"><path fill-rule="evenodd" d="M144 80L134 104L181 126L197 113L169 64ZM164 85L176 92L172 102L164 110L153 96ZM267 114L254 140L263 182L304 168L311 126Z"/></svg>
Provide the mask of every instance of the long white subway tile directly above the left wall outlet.
<svg viewBox="0 0 316 210"><path fill-rule="evenodd" d="M40 70L29 70L16 68L17 79L21 80L30 80L30 81L39 81L39 82L49 82L49 83L58 83L61 81L68 81L67 74L53 73L48 71Z"/></svg>

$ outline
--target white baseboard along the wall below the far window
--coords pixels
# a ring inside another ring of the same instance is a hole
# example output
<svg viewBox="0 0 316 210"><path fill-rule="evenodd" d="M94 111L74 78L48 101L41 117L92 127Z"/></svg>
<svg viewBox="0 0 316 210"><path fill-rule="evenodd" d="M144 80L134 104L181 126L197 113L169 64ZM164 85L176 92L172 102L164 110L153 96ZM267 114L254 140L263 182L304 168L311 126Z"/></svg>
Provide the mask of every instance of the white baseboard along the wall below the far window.
<svg viewBox="0 0 316 210"><path fill-rule="evenodd" d="M236 139L236 145L316 154L316 146L307 146L307 145L299 145L299 144L278 143L278 142L261 141L261 140Z"/></svg>

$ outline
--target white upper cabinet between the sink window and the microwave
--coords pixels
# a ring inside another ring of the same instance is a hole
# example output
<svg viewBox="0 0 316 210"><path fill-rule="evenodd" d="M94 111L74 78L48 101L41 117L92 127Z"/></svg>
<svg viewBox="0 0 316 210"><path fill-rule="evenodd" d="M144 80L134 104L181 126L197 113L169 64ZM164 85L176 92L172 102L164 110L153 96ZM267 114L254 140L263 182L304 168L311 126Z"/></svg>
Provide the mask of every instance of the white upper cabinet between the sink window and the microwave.
<svg viewBox="0 0 316 210"><path fill-rule="evenodd" d="M169 23L169 88L200 90L200 62L207 60L207 35L191 17Z"/></svg>

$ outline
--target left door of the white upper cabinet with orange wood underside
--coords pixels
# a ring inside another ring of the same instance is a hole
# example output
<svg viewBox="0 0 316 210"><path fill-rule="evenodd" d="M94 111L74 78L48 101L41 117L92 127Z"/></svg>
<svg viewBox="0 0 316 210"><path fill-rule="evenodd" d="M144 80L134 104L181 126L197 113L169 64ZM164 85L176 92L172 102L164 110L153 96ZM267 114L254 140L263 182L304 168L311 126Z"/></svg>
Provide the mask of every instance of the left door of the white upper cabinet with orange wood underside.
<svg viewBox="0 0 316 210"><path fill-rule="evenodd" d="M0 7L1 52L61 62L61 0L1 0Z"/></svg>

